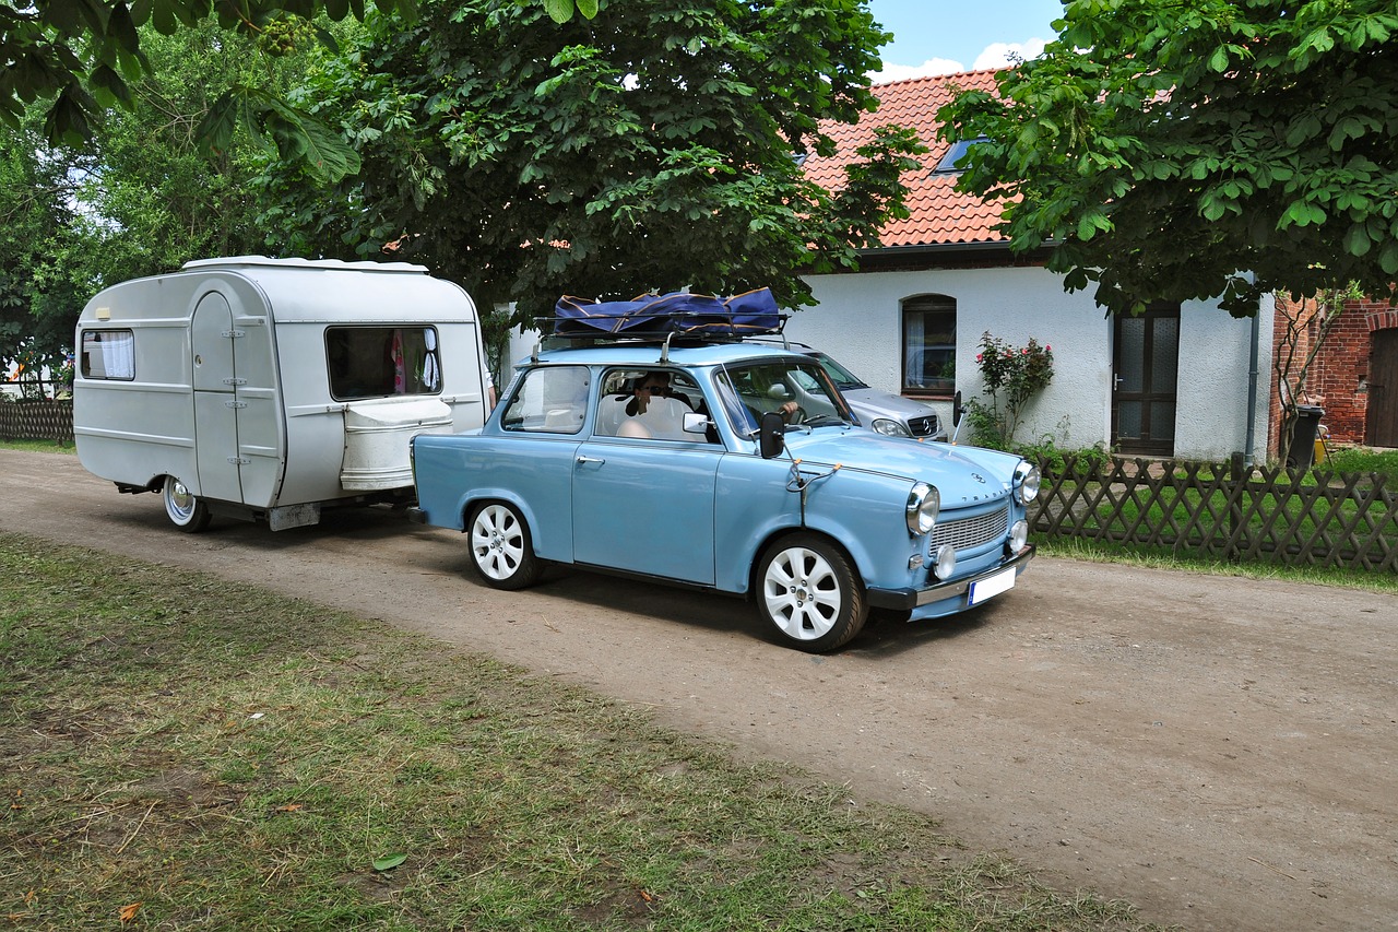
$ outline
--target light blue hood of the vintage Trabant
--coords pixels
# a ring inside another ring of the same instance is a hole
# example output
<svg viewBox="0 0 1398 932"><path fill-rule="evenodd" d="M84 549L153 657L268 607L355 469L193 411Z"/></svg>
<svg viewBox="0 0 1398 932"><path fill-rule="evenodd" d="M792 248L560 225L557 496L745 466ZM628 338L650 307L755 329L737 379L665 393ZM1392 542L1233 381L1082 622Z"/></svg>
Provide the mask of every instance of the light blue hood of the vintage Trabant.
<svg viewBox="0 0 1398 932"><path fill-rule="evenodd" d="M884 437L863 427L788 431L787 455L802 469L860 469L937 486L944 507L969 505L1009 491L1021 458L980 446Z"/></svg>

